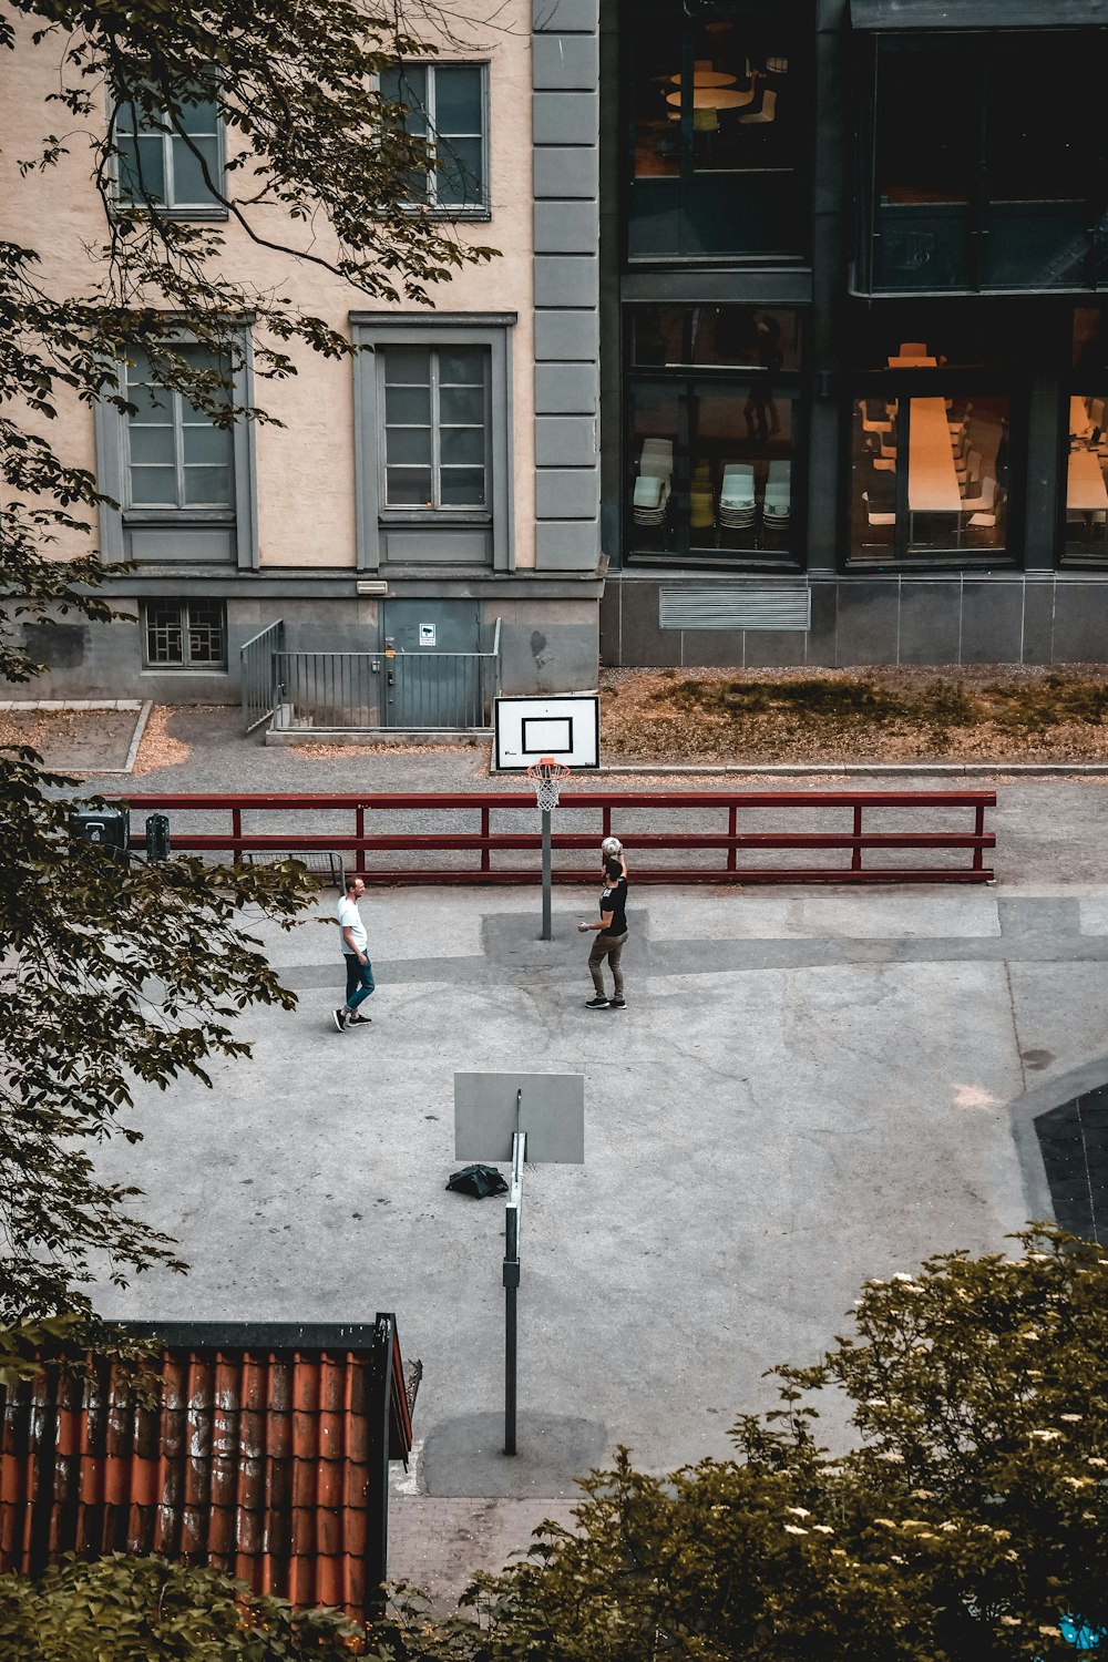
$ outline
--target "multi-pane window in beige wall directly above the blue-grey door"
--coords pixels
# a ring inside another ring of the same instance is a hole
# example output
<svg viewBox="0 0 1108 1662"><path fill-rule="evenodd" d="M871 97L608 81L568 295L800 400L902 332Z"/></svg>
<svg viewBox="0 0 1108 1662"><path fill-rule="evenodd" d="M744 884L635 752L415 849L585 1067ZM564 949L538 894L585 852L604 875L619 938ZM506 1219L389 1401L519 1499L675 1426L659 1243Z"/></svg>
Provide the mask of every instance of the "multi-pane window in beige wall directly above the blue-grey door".
<svg viewBox="0 0 1108 1662"><path fill-rule="evenodd" d="M387 346L379 352L390 509L488 505L488 351Z"/></svg>

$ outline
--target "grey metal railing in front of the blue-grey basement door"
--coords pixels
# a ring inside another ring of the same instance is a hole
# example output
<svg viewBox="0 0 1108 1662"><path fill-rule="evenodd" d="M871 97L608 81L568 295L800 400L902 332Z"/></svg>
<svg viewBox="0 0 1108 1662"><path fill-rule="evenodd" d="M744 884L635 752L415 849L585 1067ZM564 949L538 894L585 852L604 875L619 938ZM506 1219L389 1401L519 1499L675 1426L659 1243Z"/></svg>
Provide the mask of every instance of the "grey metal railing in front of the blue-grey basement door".
<svg viewBox="0 0 1108 1662"><path fill-rule="evenodd" d="M492 726L500 618L490 652L274 652L276 731Z"/></svg>

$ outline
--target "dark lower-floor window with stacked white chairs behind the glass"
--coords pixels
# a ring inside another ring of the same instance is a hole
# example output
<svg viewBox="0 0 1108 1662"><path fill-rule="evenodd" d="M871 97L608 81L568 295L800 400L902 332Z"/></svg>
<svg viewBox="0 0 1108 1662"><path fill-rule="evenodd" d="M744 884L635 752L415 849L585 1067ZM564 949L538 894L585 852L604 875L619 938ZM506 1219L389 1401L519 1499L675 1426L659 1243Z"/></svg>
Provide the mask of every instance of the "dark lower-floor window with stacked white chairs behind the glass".
<svg viewBox="0 0 1108 1662"><path fill-rule="evenodd" d="M626 307L625 552L799 565L799 314Z"/></svg>

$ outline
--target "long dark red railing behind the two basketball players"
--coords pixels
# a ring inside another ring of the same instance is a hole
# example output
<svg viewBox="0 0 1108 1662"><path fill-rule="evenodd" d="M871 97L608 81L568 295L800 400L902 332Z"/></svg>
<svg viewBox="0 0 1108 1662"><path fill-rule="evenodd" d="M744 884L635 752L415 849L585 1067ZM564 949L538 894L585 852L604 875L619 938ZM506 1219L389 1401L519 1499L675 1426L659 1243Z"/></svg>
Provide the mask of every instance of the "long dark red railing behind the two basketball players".
<svg viewBox="0 0 1108 1662"><path fill-rule="evenodd" d="M140 794L128 803L136 814L174 811L171 839L181 853L243 859L248 853L334 851L367 883L538 881L542 833L530 791ZM985 831L985 809L995 804L995 791L563 793L552 838L553 881L595 883L600 839L611 836L618 814L633 883L990 883L983 853L997 838ZM203 823L189 828L178 818L183 813ZM678 823L666 826L674 813ZM952 816L965 813L972 829L955 829ZM528 829L517 829L520 814ZM211 829L216 816L223 828ZM814 819L816 828L794 829L797 816ZM430 831L435 818L440 829ZM561 829L570 818L573 829ZM306 823L311 829L301 831ZM379 831L384 823L389 829ZM586 863L575 858L580 851L588 851ZM912 859L917 853L932 859L920 864ZM427 854L444 859L427 864ZM500 856L495 866L493 854ZM782 854L794 858L782 863ZM963 854L968 864L955 864Z"/></svg>

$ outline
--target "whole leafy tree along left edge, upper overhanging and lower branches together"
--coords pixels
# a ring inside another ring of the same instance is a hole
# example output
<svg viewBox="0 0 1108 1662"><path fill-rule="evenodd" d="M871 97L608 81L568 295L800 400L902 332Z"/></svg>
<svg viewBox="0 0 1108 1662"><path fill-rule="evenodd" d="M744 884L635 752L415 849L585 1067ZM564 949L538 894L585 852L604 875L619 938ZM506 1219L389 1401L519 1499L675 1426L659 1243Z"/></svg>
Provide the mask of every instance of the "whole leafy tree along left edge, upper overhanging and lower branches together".
<svg viewBox="0 0 1108 1662"><path fill-rule="evenodd" d="M432 8L442 35L445 13ZM223 425L264 420L236 404L241 326L261 377L294 372L294 344L337 356L351 342L294 297L239 279L221 224L174 219L128 165L116 115L159 123L204 170L236 238L337 276L362 296L429 302L434 286L488 249L407 206L430 160L382 100L397 57L434 53L399 7L360 0L0 0L0 55L48 55L50 128L10 158L27 201L85 146L103 206L103 246L80 293L32 246L0 241L0 680L37 673L23 627L65 612L111 617L103 583L121 567L95 552L63 558L90 532L95 477L51 444L75 409L126 409L118 366L148 354L159 386ZM10 58L15 63L15 58ZM10 78L15 85L15 78ZM213 100L228 133L213 176L186 111ZM120 176L126 189L120 189ZM18 194L18 193L17 193ZM203 357L181 351L199 342ZM213 357L214 354L214 357ZM213 367L214 366L214 367ZM116 1278L179 1266L173 1243L133 1210L136 1192L96 1178L95 1143L121 1127L135 1080L204 1075L211 1055L249 1049L229 1025L251 1002L291 1009L243 922L289 924L309 894L302 871L223 871L174 859L116 863L76 844L61 794L30 750L0 748L0 1325L90 1315L98 1260ZM71 1335L70 1335L71 1336ZM12 1368L27 1345L10 1338Z"/></svg>

